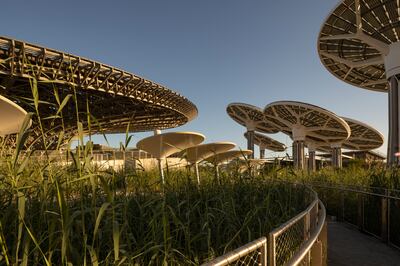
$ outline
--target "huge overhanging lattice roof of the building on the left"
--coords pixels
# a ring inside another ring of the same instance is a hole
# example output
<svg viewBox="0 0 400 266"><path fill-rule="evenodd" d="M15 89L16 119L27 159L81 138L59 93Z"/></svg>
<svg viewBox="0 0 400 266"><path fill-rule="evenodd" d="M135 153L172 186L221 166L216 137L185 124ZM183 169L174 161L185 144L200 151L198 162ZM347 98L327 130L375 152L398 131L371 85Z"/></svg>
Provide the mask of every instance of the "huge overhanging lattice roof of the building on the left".
<svg viewBox="0 0 400 266"><path fill-rule="evenodd" d="M0 37L0 85L1 95L28 112L36 113L37 96L49 142L58 140L52 136L60 131L76 134L78 120L86 132L112 133L125 132L128 125L132 132L173 128L197 116L193 103L150 80L6 37ZM63 99L69 100L58 112ZM37 129L36 119L39 134Z"/></svg>

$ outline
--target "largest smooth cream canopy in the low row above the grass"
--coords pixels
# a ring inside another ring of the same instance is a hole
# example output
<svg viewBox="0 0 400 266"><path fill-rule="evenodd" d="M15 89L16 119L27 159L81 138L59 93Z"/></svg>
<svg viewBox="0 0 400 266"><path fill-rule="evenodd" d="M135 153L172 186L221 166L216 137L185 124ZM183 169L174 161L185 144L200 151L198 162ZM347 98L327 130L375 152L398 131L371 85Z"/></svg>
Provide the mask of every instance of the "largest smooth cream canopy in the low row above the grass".
<svg viewBox="0 0 400 266"><path fill-rule="evenodd" d="M199 145L204 135L195 132L168 132L140 140L136 147L155 158L164 159L184 149Z"/></svg>

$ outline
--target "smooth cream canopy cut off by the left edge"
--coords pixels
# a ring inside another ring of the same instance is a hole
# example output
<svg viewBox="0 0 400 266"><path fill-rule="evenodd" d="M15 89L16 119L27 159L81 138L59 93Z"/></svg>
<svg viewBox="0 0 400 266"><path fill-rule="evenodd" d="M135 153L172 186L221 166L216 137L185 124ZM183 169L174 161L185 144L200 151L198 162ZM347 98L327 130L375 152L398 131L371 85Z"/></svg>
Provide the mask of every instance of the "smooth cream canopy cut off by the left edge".
<svg viewBox="0 0 400 266"><path fill-rule="evenodd" d="M19 105L0 95L0 136L18 133L26 115Z"/></svg>

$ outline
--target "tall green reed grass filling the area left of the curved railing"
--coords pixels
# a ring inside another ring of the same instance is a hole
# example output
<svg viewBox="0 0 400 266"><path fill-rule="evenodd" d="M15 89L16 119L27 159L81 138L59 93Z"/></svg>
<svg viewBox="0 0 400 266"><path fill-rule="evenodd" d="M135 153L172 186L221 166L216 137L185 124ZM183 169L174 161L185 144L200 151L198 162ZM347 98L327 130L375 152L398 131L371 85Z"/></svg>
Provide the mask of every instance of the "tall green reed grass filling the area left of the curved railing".
<svg viewBox="0 0 400 266"><path fill-rule="evenodd" d="M96 121L88 105L79 110L75 90L62 98L54 86L54 114L42 117L50 103L40 100L36 80L31 85L39 135L29 139L27 120L12 148L0 150L0 264L197 265L265 236L308 203L304 187L235 171L217 182L204 169L200 187L187 171L169 171L165 186L157 172L100 171L84 143ZM61 149L59 128L71 115L78 147L66 147L72 163L65 164L49 156L49 136ZM126 133L122 150L131 138ZM35 141L44 156L33 153Z"/></svg>

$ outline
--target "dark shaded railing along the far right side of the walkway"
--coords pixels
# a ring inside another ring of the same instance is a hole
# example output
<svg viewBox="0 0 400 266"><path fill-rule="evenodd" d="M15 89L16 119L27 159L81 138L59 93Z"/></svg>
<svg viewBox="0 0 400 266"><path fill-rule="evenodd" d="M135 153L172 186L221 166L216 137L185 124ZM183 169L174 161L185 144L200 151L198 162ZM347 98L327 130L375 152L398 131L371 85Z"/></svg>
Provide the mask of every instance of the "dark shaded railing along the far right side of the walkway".
<svg viewBox="0 0 400 266"><path fill-rule="evenodd" d="M329 215L400 249L400 191L311 184Z"/></svg>

